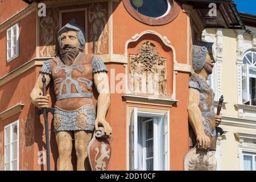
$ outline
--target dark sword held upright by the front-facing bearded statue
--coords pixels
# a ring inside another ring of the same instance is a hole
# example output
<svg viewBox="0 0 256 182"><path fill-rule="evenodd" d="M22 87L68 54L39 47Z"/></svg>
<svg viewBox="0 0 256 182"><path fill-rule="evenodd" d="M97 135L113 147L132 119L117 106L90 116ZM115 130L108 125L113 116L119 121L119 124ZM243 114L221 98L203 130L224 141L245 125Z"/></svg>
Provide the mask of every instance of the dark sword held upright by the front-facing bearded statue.
<svg viewBox="0 0 256 182"><path fill-rule="evenodd" d="M43 96L46 96L46 77L42 78L43 82ZM40 93L41 95L41 93ZM48 113L54 113L53 108L44 108L36 112L36 115L40 117L41 114L44 114L44 125L46 126L46 161L47 161L47 171L50 171L50 161L49 161L49 126L48 126Z"/></svg>

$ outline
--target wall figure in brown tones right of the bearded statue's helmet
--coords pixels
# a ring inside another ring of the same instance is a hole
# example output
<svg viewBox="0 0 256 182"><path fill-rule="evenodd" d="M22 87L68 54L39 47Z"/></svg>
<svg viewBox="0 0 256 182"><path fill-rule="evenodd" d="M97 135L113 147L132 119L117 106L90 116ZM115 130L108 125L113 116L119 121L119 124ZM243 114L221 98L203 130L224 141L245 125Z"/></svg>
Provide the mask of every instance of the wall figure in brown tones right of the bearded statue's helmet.
<svg viewBox="0 0 256 182"><path fill-rule="evenodd" d="M104 47L106 37L108 36L108 32L105 30L106 18L105 18L105 9L102 9L101 4L97 3L89 7L89 22L92 23L92 27L90 29L90 39L93 42L93 53L104 53L101 51L101 47Z"/></svg>

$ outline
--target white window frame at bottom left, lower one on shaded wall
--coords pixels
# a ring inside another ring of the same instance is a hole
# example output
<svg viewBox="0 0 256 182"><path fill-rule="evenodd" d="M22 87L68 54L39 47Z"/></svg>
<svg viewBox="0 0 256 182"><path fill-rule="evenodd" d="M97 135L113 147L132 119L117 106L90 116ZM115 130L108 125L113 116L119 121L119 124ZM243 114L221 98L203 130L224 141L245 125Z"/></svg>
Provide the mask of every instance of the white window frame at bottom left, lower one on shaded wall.
<svg viewBox="0 0 256 182"><path fill-rule="evenodd" d="M17 140L13 141L13 126L14 125L17 125ZM6 129L10 127L10 143L6 143ZM16 160L17 161L17 171L19 171L19 120L18 121L15 121L13 123L10 123L9 125L6 125L5 126L5 129L4 129L4 135L5 135L5 171L6 171L6 164L7 163L10 163L10 171L13 171L13 162ZM17 158L13 160L13 143L14 142L17 142ZM10 145L10 161L7 162L6 161L6 146L9 146Z"/></svg>

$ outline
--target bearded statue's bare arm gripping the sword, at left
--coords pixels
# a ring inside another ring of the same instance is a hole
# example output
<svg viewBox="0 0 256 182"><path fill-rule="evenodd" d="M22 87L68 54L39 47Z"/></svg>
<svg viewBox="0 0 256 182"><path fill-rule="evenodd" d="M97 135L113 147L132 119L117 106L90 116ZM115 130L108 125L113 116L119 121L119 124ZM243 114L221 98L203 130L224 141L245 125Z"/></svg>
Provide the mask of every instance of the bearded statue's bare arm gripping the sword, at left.
<svg viewBox="0 0 256 182"><path fill-rule="evenodd" d="M43 82L42 82L42 73L39 74L38 79L36 80L34 89L30 93L30 98L32 104L34 104L39 109L49 107L49 95L43 96ZM46 88L49 86L49 82L51 81L51 76L48 74L44 74L46 77Z"/></svg>

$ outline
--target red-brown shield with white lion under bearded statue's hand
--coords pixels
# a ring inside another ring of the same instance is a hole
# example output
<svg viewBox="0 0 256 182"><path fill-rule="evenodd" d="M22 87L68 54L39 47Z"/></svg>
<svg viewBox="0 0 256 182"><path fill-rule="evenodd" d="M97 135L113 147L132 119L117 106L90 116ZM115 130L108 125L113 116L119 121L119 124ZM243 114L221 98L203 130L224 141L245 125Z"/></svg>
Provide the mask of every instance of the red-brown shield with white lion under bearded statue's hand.
<svg viewBox="0 0 256 182"><path fill-rule="evenodd" d="M99 127L88 144L88 158L92 171L106 171L109 167L111 146L107 138L109 137L105 135L103 127Z"/></svg>

